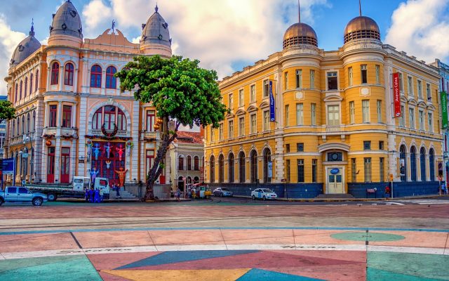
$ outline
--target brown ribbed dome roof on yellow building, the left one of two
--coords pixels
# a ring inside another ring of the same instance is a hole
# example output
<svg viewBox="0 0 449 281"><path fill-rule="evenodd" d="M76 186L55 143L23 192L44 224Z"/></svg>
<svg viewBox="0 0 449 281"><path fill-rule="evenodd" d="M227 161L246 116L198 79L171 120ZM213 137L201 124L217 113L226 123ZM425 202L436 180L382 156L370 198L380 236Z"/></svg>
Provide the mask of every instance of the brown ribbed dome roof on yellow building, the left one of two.
<svg viewBox="0 0 449 281"><path fill-rule="evenodd" d="M286 33L283 35L283 48L296 45L312 45L318 46L318 39L315 30L310 25L302 22L297 22L288 27Z"/></svg>

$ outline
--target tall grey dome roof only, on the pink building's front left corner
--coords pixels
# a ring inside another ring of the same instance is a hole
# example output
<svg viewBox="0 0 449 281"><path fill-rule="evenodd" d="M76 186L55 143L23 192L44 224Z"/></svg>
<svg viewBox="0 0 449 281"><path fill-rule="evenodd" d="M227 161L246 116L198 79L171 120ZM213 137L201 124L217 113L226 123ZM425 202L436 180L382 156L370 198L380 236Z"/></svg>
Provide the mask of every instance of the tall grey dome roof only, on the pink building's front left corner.
<svg viewBox="0 0 449 281"><path fill-rule="evenodd" d="M83 39L83 26L78 11L70 0L62 4L53 14L53 22L50 26L50 36L68 35Z"/></svg>

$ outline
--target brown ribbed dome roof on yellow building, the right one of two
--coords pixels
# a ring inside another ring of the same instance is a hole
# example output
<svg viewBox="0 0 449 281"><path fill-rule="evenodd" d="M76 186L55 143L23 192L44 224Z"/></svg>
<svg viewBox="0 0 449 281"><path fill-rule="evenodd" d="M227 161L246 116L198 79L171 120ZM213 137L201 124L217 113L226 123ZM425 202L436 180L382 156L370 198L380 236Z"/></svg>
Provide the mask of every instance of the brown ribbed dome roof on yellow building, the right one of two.
<svg viewBox="0 0 449 281"><path fill-rule="evenodd" d="M377 23L366 16L353 18L344 29L344 43L354 39L380 40L380 30Z"/></svg>

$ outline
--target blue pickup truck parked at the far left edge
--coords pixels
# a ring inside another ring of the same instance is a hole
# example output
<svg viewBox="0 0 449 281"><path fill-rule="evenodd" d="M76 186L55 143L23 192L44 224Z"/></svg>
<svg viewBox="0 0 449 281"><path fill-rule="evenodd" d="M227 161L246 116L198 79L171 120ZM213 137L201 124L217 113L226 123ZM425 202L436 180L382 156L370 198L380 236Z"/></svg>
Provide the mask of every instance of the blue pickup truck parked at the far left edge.
<svg viewBox="0 0 449 281"><path fill-rule="evenodd" d="M32 203L34 206L41 206L43 202L47 202L47 195L31 192L27 188L8 186L5 190L0 190L0 205L5 202Z"/></svg>

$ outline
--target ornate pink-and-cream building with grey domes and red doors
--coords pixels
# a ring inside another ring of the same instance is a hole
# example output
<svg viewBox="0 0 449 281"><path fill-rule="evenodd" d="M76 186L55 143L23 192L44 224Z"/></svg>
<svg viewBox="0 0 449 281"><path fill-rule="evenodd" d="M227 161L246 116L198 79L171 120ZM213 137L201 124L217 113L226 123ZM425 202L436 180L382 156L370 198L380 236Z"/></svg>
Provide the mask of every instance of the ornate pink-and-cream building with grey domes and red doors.
<svg viewBox="0 0 449 281"><path fill-rule="evenodd" d="M48 45L34 30L16 48L6 81L17 118L8 124L6 155L17 160L16 180L69 183L90 171L126 183L145 181L159 131L155 110L120 92L114 73L136 55L171 56L168 24L156 11L142 25L140 44L119 30L83 39L70 1L53 15ZM27 157L24 157L27 155ZM169 166L159 178L168 183ZM11 178L8 178L11 181Z"/></svg>

